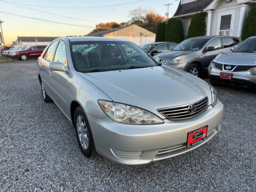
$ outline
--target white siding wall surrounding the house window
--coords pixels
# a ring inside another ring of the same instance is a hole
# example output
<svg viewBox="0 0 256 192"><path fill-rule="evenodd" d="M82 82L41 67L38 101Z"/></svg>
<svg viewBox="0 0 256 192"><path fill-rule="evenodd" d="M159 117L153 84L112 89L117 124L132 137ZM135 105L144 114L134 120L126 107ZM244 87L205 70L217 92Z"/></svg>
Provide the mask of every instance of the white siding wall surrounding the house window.
<svg viewBox="0 0 256 192"><path fill-rule="evenodd" d="M231 1L230 3L226 3L226 1L221 1L218 8L215 9L212 13L212 24L211 24L211 35L217 35L218 29L218 18L220 13L235 11L234 15L234 30L233 36L238 35L238 26L239 26L239 15L240 15L240 7L237 4L237 1Z"/></svg>

